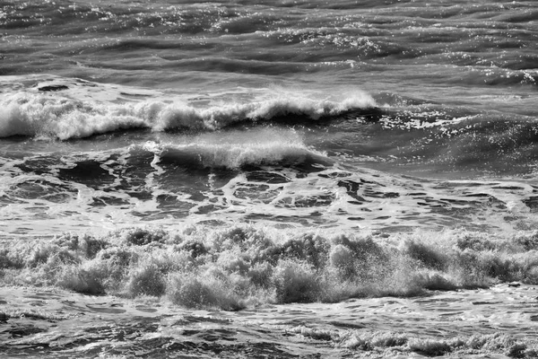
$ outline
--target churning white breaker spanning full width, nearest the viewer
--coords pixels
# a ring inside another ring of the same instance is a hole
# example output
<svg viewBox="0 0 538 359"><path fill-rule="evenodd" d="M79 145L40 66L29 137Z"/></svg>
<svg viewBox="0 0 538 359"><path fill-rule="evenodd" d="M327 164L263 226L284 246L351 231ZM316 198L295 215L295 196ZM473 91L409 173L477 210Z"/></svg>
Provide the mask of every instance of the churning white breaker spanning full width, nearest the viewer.
<svg viewBox="0 0 538 359"><path fill-rule="evenodd" d="M297 230L295 230L297 231ZM538 232L291 232L253 225L179 232L125 229L96 238L4 241L2 285L166 296L186 308L341 302L429 290L538 284Z"/></svg>

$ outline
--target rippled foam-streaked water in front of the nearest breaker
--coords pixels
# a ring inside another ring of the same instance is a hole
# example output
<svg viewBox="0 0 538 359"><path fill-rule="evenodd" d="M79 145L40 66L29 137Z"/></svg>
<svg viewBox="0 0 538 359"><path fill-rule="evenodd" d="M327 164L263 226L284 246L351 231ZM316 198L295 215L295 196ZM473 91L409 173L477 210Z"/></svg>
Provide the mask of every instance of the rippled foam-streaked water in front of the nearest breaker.
<svg viewBox="0 0 538 359"><path fill-rule="evenodd" d="M130 283L137 286L138 280L149 280L156 272L152 267L145 277L136 276ZM213 292L196 287L201 291L192 292L193 298L200 294L198 298L214 299L212 293L219 288L213 285ZM161 282L154 281L146 289L158 292L160 287ZM89 340L90 344L76 347L77 355L91 356L98 349L116 355L143 350L158 357L176 348L182 355L210 357L218 351L230 358L264 356L269 351L278 357L300 352L395 358L535 358L538 353L536 289L531 285L339 304L265 304L246 311L196 311L143 294L133 300L50 287L3 289L0 318L9 323L0 343L5 355L39 356L46 345L54 346L56 355L69 354L74 345ZM117 342L121 346L110 347Z"/></svg>

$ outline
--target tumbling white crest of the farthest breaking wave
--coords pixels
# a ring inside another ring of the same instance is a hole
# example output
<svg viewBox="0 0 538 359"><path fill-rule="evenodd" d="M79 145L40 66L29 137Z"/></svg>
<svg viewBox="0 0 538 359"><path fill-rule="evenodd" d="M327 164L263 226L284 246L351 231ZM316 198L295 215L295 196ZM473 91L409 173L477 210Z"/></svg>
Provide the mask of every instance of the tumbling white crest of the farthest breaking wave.
<svg viewBox="0 0 538 359"><path fill-rule="evenodd" d="M75 100L64 97L63 93L16 92L0 100L0 137L67 140L130 128L216 130L245 121L283 117L289 117L285 118L289 122L294 118L317 120L374 107L376 102L364 92L344 96L339 101L282 92L259 101L230 101L205 107L187 101L116 104Z"/></svg>

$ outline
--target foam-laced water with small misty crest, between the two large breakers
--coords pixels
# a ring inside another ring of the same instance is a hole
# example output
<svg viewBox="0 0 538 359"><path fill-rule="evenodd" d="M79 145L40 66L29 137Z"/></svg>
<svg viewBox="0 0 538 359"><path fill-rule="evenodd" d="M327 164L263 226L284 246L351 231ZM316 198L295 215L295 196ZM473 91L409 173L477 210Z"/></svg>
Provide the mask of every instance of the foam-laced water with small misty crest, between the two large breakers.
<svg viewBox="0 0 538 359"><path fill-rule="evenodd" d="M109 231L141 220L391 232L461 226L514 232L533 222L533 181L421 180L351 171L306 145L304 134L255 127L158 134L128 146L96 141L91 145L104 148L91 152L76 151L87 146L83 141L34 142L44 144L45 153L12 149L0 158L0 214L6 221L0 235Z"/></svg>

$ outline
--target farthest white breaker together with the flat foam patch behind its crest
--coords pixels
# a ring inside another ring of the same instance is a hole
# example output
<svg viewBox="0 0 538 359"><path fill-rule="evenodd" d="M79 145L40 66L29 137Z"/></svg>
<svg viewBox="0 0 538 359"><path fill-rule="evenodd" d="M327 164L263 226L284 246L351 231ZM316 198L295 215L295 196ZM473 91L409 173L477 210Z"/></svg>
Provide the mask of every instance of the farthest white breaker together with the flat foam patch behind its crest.
<svg viewBox="0 0 538 359"><path fill-rule="evenodd" d="M89 85L69 79L42 82L36 88L0 98L1 137L20 135L67 140L132 128L217 130L235 123L287 116L317 120L376 106L364 92L330 100L307 92L273 89L259 94L259 89L255 89L244 90L254 93L254 98L251 96L247 101L237 100L237 93L232 92L229 98L220 95L212 99L210 96L200 105L198 98L195 101L185 96L163 98L158 92L97 83ZM96 88L108 93L110 101L103 101L105 95L96 94ZM48 93L38 93L43 89ZM140 98L146 100L140 101Z"/></svg>

